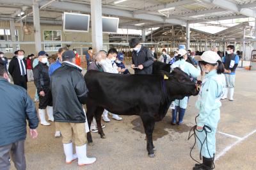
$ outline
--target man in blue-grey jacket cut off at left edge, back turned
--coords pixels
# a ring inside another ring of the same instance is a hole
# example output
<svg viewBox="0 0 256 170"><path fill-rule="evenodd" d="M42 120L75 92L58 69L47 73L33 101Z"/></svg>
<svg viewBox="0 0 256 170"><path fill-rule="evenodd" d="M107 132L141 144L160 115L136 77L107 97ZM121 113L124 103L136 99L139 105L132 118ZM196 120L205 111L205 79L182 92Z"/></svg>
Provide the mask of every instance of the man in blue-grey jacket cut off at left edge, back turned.
<svg viewBox="0 0 256 170"><path fill-rule="evenodd" d="M24 142L27 121L30 135L37 137L38 117L26 89L10 84L8 73L0 65L0 169L10 169L10 154L16 169L25 170Z"/></svg>

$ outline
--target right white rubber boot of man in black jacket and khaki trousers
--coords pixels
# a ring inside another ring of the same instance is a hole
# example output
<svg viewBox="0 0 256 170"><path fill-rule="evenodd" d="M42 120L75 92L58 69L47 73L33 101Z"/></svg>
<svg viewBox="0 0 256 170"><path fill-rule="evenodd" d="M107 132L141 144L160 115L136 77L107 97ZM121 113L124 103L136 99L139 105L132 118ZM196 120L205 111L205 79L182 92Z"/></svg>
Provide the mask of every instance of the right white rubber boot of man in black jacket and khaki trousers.
<svg viewBox="0 0 256 170"><path fill-rule="evenodd" d="M87 157L86 144L84 144L83 146L76 146L76 154L77 154L79 166L93 164L96 161L96 158Z"/></svg>

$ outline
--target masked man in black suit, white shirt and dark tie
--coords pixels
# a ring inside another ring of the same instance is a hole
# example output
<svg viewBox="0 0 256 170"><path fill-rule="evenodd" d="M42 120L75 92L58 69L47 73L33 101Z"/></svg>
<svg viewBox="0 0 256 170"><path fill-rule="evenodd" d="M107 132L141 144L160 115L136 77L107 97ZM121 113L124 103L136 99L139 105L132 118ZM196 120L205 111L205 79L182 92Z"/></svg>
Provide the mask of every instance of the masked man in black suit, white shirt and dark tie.
<svg viewBox="0 0 256 170"><path fill-rule="evenodd" d="M24 50L18 50L17 57L10 61L8 71L12 75L14 84L27 89L27 62L24 58Z"/></svg>

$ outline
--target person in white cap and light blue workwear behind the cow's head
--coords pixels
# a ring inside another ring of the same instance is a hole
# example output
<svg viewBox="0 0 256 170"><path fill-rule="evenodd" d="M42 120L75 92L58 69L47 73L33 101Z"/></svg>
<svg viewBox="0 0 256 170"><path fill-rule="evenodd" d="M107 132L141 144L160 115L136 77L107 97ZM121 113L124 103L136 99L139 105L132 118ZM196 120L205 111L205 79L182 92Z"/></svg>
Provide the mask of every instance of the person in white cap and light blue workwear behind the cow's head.
<svg viewBox="0 0 256 170"><path fill-rule="evenodd" d="M172 70L173 68L179 67L183 72L187 73L188 75L191 75L192 77L198 77L200 75L200 70L195 68L195 66L191 65L191 63L188 63L186 59L187 51L185 49L179 49L177 61L173 63L171 66ZM179 121L178 125L182 125L184 114L186 111L188 105L188 97L184 97L182 100L175 100L175 109L172 110L172 125L175 125L177 123L177 112L179 112Z"/></svg>

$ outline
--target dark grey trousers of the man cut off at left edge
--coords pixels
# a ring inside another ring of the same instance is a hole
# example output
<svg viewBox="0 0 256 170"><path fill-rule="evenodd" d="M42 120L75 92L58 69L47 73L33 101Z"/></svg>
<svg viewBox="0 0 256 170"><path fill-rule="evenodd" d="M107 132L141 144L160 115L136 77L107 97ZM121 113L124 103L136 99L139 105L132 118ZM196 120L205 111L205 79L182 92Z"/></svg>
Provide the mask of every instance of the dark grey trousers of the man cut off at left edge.
<svg viewBox="0 0 256 170"><path fill-rule="evenodd" d="M8 144L6 146L0 146L0 169L9 170L10 169L10 155L12 161L17 170L26 169L26 159L24 153L24 143L25 141L17 141L16 143Z"/></svg>

